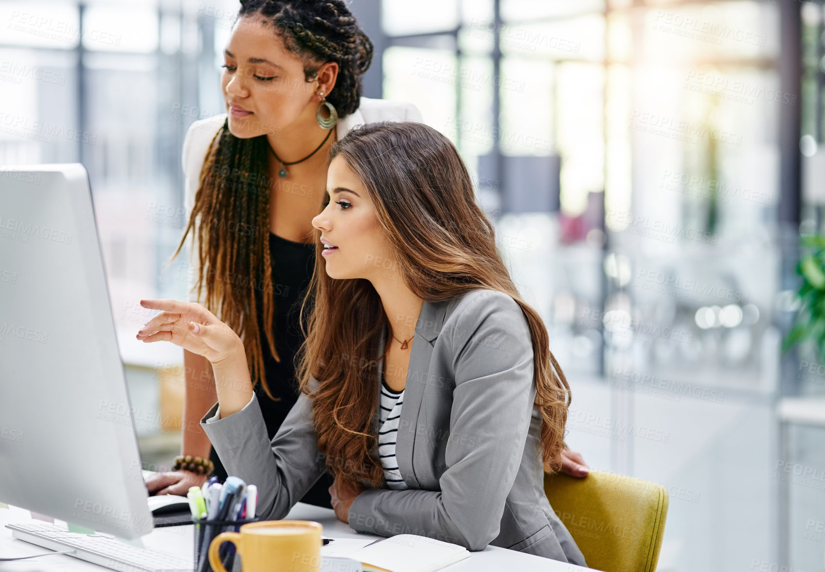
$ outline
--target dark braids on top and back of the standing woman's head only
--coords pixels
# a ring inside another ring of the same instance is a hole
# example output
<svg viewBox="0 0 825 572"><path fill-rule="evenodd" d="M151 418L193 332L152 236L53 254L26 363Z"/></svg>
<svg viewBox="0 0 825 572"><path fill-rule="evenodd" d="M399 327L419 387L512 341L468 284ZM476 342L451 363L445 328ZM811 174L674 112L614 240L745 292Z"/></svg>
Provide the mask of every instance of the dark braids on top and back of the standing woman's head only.
<svg viewBox="0 0 825 572"><path fill-rule="evenodd" d="M286 49L321 63L338 64L338 77L327 100L338 115L350 115L361 99L361 74L370 68L373 45L343 0L241 0L238 17L264 16L284 39ZM304 66L311 82L318 66Z"/></svg>

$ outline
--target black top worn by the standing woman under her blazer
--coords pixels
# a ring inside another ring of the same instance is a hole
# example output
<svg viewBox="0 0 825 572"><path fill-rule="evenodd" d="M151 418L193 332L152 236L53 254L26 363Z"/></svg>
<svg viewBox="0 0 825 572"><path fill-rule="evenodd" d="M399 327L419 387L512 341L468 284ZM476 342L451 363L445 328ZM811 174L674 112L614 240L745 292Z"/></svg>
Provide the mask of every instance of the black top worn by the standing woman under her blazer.
<svg viewBox="0 0 825 572"><path fill-rule="evenodd" d="M304 342L299 325L300 300L304 290L309 286L315 266L315 245L293 242L269 233L269 246L272 262L272 292L275 302L275 316L272 323L275 334L275 347L281 362L276 362L266 342L266 334L261 329L261 346L263 354L266 385L273 396L273 401L266 395L263 387L256 385L258 406L261 407L266 431L269 438L275 437L286 415L298 401L298 380L295 379L295 354ZM263 292L256 288L258 325L263 326ZM210 459L214 462L214 474L221 482L226 479L226 471L217 453L212 448ZM325 475L304 495L301 502L332 508L329 486L332 476Z"/></svg>

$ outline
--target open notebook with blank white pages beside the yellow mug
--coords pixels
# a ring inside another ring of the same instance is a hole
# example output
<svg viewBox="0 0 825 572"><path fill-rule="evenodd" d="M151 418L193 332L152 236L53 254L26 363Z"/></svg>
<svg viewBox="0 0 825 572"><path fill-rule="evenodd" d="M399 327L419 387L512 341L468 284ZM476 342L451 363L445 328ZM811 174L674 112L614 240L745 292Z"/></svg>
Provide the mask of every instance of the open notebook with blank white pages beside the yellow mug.
<svg viewBox="0 0 825 572"><path fill-rule="evenodd" d="M325 558L348 558L361 562L365 572L435 572L469 557L464 546L415 534L398 534L369 542L336 538L323 546Z"/></svg>

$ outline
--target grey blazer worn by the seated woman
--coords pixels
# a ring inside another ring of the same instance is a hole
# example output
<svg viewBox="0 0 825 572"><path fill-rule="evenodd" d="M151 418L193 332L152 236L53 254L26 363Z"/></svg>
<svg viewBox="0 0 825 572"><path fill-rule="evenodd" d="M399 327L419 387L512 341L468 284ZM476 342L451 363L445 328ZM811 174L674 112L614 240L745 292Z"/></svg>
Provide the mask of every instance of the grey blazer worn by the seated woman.
<svg viewBox="0 0 825 572"><path fill-rule="evenodd" d="M396 443L409 489L365 490L351 505L350 526L585 565L544 495L533 377L530 331L510 296L479 289L424 302ZM323 475L325 457L307 396L299 396L271 442L256 399L217 420L215 404L201 426L229 474L257 485L262 518L284 518Z"/></svg>

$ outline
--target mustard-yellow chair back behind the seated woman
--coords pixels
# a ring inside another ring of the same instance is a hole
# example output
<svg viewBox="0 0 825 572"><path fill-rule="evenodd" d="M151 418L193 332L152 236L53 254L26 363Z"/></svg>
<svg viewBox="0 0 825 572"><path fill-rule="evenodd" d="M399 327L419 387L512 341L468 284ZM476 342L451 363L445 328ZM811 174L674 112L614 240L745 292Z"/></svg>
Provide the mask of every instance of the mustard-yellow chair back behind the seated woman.
<svg viewBox="0 0 825 572"><path fill-rule="evenodd" d="M667 490L632 476L544 474L544 493L590 568L653 572L667 519Z"/></svg>

